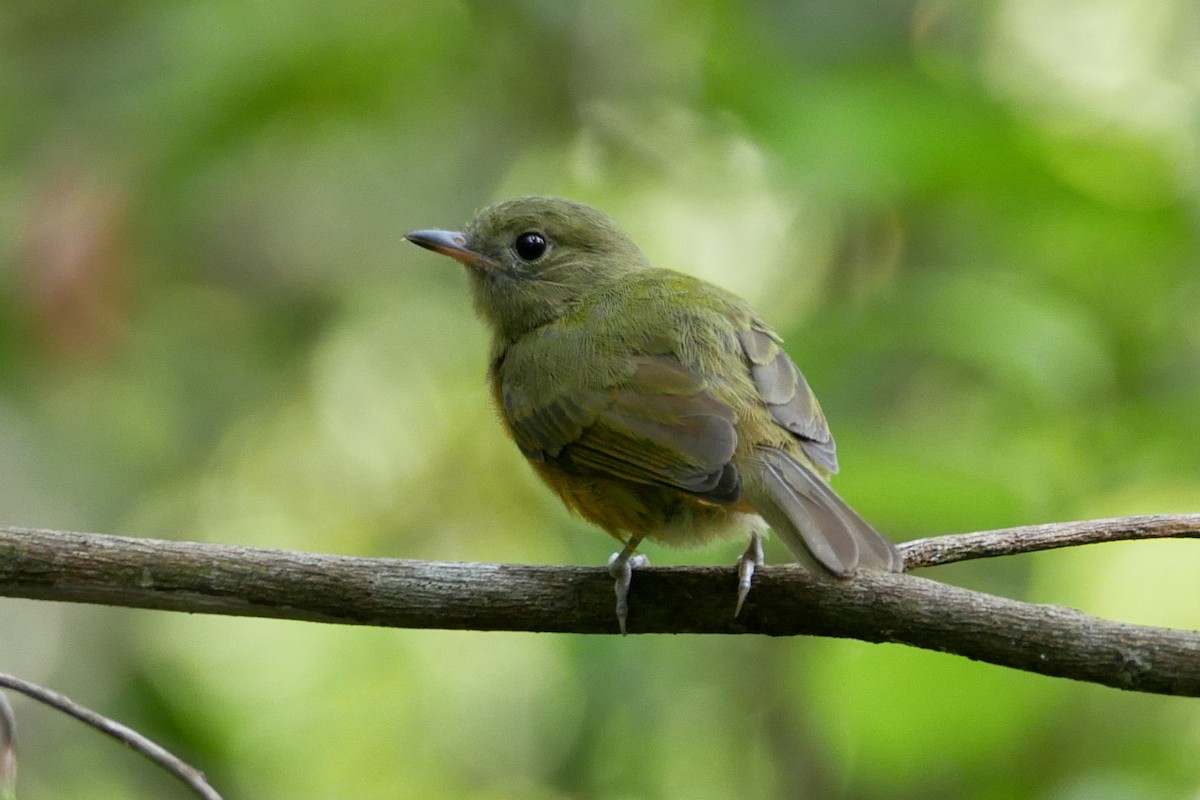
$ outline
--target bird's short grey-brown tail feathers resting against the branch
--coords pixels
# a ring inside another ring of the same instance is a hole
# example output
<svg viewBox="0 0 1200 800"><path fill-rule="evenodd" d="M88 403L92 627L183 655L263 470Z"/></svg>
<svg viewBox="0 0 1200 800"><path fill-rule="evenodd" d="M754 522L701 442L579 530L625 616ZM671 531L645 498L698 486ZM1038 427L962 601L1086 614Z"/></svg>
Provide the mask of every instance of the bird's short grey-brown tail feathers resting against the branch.
<svg viewBox="0 0 1200 800"><path fill-rule="evenodd" d="M764 449L760 456L766 497L757 510L796 558L841 578L859 569L904 572L896 546L810 467L782 450Z"/></svg>

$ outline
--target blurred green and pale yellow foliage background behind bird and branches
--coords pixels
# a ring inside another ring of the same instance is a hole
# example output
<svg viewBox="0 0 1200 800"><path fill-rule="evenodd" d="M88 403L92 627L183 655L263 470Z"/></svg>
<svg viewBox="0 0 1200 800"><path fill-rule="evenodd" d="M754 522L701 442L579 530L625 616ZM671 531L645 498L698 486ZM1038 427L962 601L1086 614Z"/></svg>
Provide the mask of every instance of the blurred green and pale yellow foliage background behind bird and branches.
<svg viewBox="0 0 1200 800"><path fill-rule="evenodd" d="M755 303L896 539L1198 511L1198 54L1188 0L6 0L0 523L602 564L401 239L523 193ZM1200 627L1195 542L929 576ZM229 798L1200 792L1195 700L895 645L7 600L0 668ZM13 702L23 796L185 796Z"/></svg>

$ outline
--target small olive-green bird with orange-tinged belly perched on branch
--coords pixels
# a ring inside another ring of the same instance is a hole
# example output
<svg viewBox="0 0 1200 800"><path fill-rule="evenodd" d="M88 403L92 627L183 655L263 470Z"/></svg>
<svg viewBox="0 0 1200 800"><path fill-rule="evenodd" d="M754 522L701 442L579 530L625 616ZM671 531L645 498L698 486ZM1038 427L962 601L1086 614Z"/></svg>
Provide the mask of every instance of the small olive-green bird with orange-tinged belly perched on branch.
<svg viewBox="0 0 1200 800"><path fill-rule="evenodd" d="M509 434L563 503L624 545L610 560L622 632L644 539L749 534L734 614L768 527L838 578L904 570L826 482L838 455L821 405L745 301L655 269L606 215L560 198L508 200L463 231L407 239L467 266Z"/></svg>

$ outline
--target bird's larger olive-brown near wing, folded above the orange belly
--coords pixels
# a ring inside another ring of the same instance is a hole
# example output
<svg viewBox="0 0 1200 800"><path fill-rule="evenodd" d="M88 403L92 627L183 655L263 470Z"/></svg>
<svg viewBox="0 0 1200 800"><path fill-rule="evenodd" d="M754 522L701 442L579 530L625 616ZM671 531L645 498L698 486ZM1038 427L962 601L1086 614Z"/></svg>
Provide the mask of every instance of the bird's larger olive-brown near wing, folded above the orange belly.
<svg viewBox="0 0 1200 800"><path fill-rule="evenodd" d="M612 386L548 398L500 379L500 402L521 451L577 475L737 501L742 476L732 463L738 444L733 409L670 356L632 356L631 367Z"/></svg>

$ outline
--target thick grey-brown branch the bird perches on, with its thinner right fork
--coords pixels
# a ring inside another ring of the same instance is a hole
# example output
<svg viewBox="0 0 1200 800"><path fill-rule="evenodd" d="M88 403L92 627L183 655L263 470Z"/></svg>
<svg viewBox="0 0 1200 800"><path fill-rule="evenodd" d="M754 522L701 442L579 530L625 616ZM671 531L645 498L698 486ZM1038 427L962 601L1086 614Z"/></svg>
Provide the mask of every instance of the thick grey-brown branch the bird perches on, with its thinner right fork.
<svg viewBox="0 0 1200 800"><path fill-rule="evenodd" d="M1118 539L1200 536L1200 515L944 536L911 569ZM764 633L896 642L1045 675L1200 697L1200 633L1111 622L912 575L839 583L792 565L755 573L733 618L733 567L640 569L631 633ZM352 558L0 528L0 595L349 625L616 633L604 567Z"/></svg>

